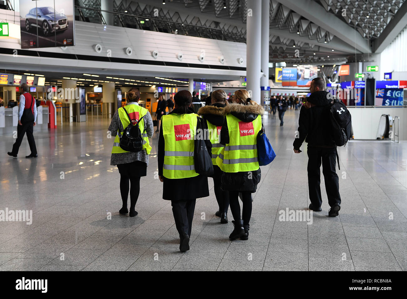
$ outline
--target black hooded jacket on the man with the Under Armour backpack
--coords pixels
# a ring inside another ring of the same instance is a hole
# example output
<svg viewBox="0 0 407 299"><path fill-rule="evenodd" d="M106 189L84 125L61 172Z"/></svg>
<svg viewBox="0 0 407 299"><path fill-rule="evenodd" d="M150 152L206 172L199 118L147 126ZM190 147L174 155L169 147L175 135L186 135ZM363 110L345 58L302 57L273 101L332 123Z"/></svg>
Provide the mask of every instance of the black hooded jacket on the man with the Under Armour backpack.
<svg viewBox="0 0 407 299"><path fill-rule="evenodd" d="M314 92L308 97L309 104L304 104L300 110L298 135L293 143L294 149L300 149L304 140L308 146L335 146L329 120L331 100L326 91Z"/></svg>

